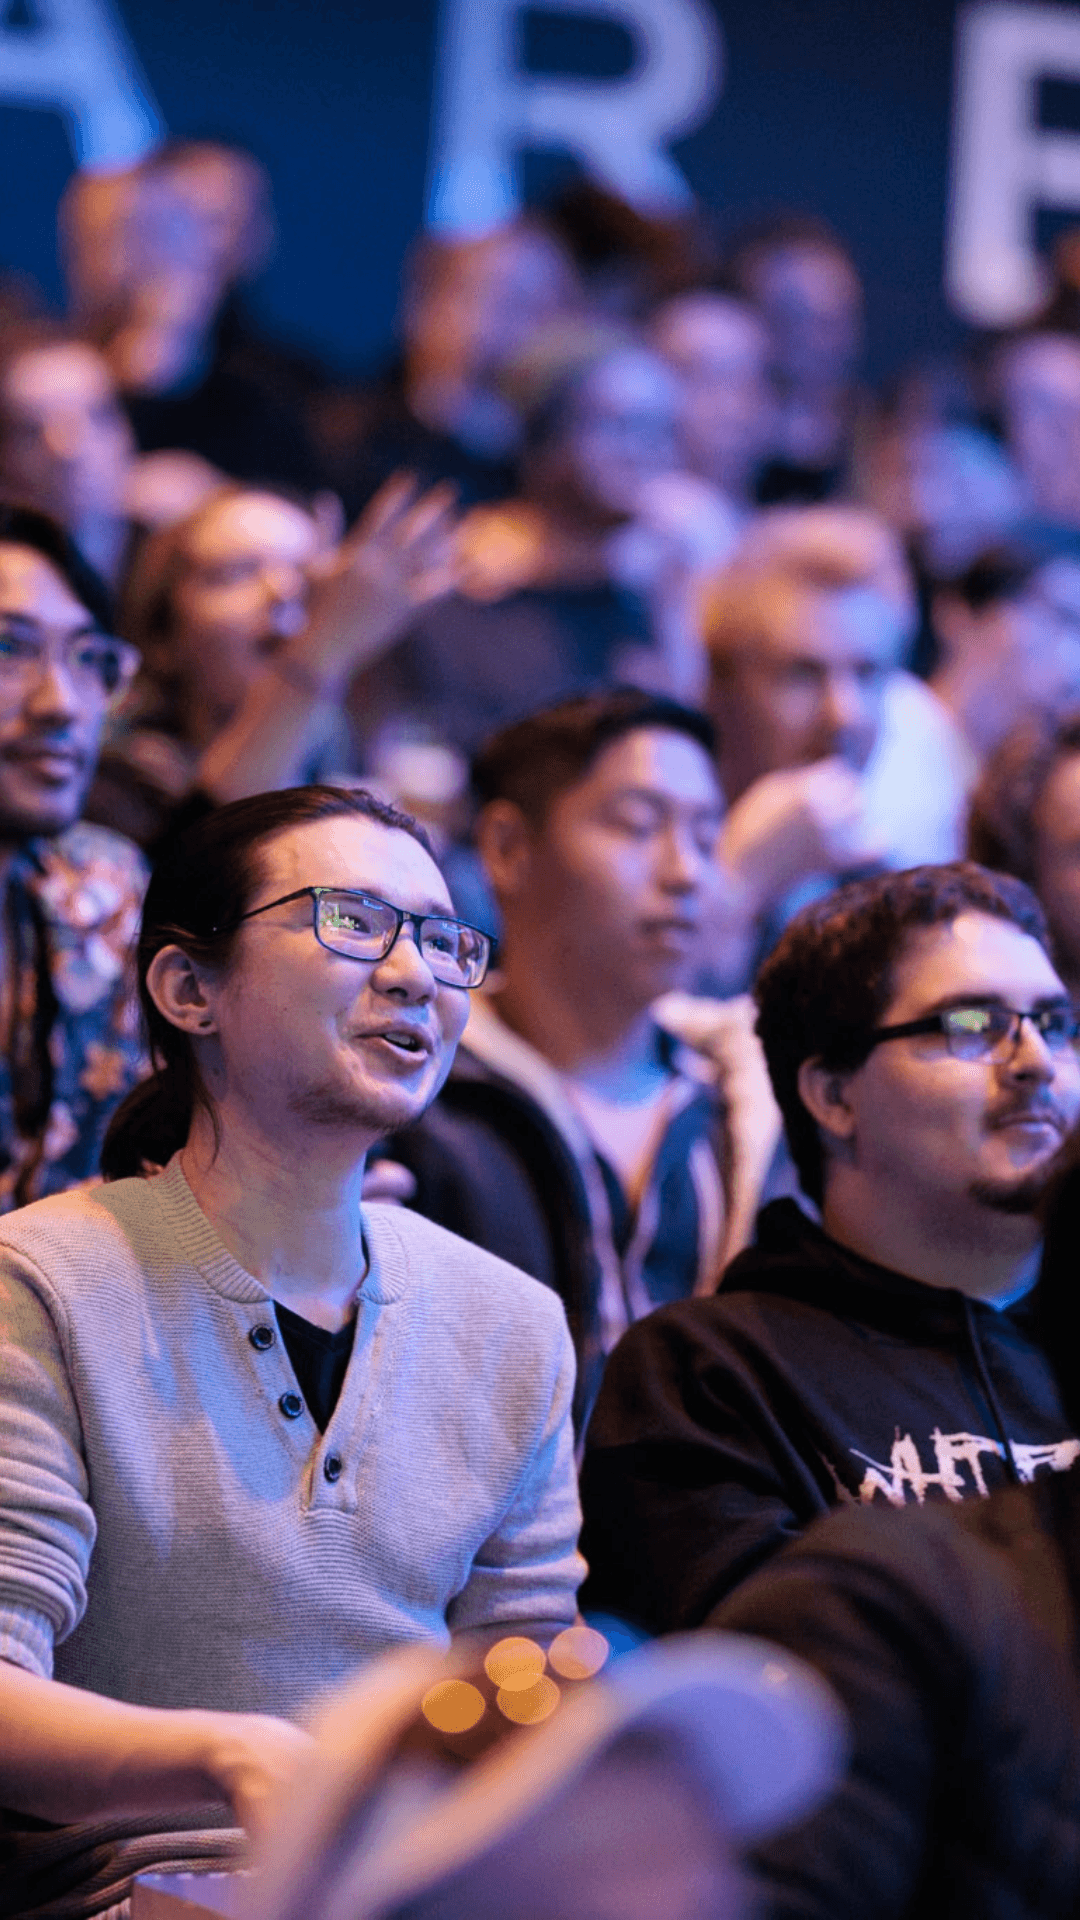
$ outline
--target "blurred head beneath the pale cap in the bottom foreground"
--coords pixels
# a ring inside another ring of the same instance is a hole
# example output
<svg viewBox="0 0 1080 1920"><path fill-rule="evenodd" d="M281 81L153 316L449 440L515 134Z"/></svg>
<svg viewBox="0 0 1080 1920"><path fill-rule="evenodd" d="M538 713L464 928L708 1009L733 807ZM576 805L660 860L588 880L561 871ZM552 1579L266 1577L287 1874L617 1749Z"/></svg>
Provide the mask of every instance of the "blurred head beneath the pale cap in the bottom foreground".
<svg viewBox="0 0 1080 1920"><path fill-rule="evenodd" d="M734 1855L659 1761L611 1753L444 1891L425 1920L738 1920Z"/></svg>

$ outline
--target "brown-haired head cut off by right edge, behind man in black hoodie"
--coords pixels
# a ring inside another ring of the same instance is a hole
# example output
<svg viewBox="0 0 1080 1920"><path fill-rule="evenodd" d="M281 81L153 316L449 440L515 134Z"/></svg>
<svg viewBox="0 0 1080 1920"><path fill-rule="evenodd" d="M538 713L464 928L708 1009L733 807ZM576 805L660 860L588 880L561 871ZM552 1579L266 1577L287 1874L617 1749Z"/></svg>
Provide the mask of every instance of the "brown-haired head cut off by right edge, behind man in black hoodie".
<svg viewBox="0 0 1080 1920"><path fill-rule="evenodd" d="M984 768L969 852L1038 895L1057 966L1080 989L1080 712L1017 728Z"/></svg>

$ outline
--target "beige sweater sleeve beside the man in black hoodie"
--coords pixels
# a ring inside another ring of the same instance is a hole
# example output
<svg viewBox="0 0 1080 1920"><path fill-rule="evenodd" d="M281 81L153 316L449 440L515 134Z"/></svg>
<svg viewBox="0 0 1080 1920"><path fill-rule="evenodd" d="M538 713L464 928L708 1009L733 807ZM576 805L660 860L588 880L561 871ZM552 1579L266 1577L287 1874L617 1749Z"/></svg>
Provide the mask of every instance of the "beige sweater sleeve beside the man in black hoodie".
<svg viewBox="0 0 1080 1920"><path fill-rule="evenodd" d="M500 1526L473 1559L469 1580L448 1609L454 1634L503 1620L569 1624L584 1561L577 1553L580 1505L573 1455L575 1350L559 1309L552 1386L544 1421Z"/></svg>

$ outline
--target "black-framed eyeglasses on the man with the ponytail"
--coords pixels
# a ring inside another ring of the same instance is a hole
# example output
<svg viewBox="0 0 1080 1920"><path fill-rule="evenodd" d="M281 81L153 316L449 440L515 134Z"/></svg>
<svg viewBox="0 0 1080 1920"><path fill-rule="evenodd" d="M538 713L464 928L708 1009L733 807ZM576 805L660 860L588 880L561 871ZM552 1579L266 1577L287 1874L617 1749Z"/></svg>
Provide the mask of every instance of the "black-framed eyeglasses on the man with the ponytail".
<svg viewBox="0 0 1080 1920"><path fill-rule="evenodd" d="M319 947L346 960L384 960L402 927L411 927L419 952L444 987L479 987L492 958L492 935L467 920L444 920L442 914L409 914L404 906L379 900L373 893L350 893L342 887L298 887L281 900L252 906L231 925L269 914L271 906L311 899L311 927ZM225 933L225 927L215 927Z"/></svg>

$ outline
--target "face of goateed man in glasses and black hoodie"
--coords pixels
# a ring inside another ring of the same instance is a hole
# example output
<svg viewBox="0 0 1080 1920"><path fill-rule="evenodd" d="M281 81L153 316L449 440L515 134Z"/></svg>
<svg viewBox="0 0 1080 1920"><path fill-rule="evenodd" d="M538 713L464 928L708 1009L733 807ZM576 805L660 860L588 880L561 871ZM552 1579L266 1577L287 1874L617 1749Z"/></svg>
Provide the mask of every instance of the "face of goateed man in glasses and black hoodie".
<svg viewBox="0 0 1080 1920"><path fill-rule="evenodd" d="M911 937L880 1025L957 1004L1030 1012L1065 998L1038 941L1005 920L965 912ZM1030 1023L999 1060L955 1060L940 1035L886 1041L847 1077L847 1098L859 1169L890 1187L903 1183L922 1217L970 1200L1030 1212L1080 1116L1080 1058L1072 1048L1051 1052Z"/></svg>

